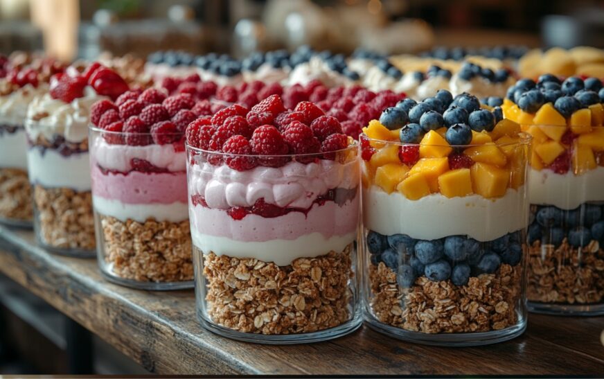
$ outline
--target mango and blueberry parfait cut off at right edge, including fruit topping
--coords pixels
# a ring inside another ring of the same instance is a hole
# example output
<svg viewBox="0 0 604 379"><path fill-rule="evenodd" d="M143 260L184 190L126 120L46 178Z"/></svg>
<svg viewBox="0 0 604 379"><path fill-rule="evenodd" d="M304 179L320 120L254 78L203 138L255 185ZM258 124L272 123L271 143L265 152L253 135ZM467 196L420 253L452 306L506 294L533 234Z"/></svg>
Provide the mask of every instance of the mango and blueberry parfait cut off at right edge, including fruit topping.
<svg viewBox="0 0 604 379"><path fill-rule="evenodd" d="M502 108L533 136L527 297L536 312L604 313L604 89L519 80Z"/></svg>

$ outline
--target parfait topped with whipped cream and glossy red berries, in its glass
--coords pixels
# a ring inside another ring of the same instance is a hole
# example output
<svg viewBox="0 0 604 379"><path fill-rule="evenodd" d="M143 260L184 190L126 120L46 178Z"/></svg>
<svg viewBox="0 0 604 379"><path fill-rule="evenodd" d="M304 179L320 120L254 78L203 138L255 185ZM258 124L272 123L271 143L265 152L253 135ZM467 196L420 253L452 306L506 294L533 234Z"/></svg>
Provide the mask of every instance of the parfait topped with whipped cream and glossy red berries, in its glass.
<svg viewBox="0 0 604 379"><path fill-rule="evenodd" d="M94 254L88 124L96 115L91 106L127 89L117 73L100 64L81 73L71 67L53 76L48 92L36 96L28 107L25 127L34 227L39 243L53 252Z"/></svg>

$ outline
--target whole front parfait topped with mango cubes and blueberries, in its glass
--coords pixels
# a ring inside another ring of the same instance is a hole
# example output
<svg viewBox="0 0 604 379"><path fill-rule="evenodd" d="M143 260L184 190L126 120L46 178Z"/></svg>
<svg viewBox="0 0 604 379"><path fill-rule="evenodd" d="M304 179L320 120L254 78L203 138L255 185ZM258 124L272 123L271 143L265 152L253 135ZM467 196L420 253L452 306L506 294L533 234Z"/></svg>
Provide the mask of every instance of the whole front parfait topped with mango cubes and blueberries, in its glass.
<svg viewBox="0 0 604 379"><path fill-rule="evenodd" d="M360 139L370 325L443 345L522 333L530 136L441 90L384 110Z"/></svg>

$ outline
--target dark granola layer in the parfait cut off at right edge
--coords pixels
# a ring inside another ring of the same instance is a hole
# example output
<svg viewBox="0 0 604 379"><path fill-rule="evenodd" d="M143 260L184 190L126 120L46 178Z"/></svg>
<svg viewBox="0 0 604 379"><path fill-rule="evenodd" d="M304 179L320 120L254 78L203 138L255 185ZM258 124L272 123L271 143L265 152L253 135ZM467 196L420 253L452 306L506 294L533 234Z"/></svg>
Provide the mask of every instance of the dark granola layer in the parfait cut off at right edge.
<svg viewBox="0 0 604 379"><path fill-rule="evenodd" d="M529 301L589 304L604 300L604 249L598 241L577 248L567 238L559 246L537 240L528 254Z"/></svg>

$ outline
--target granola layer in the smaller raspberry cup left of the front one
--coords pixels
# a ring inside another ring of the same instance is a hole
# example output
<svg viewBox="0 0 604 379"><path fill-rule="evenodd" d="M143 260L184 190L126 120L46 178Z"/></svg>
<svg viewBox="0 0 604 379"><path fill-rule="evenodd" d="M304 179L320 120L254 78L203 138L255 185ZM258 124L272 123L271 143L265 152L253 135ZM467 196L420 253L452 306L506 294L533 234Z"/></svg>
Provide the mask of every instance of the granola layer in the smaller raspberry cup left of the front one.
<svg viewBox="0 0 604 379"><path fill-rule="evenodd" d="M123 279L143 282L193 280L188 220L121 221L100 215L106 267Z"/></svg>

